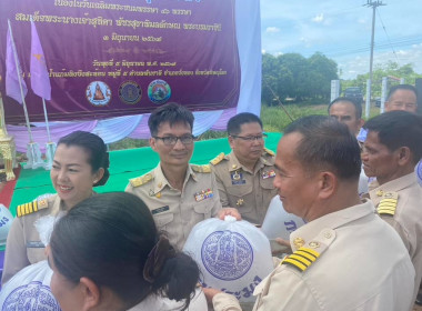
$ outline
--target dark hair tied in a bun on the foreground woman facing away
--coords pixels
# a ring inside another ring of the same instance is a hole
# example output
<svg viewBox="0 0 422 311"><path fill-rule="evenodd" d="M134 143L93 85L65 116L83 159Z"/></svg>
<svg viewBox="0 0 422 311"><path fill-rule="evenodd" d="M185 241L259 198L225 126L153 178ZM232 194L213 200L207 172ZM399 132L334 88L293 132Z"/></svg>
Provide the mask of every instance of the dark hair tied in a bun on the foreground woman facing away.
<svg viewBox="0 0 422 311"><path fill-rule="evenodd" d="M199 280L198 264L162 240L168 243L141 199L110 192L78 203L61 218L50 247L56 268L69 281L89 278L112 290L128 309L150 293L184 299L188 307ZM160 243L161 260L155 257ZM152 273L145 271L150 265Z"/></svg>

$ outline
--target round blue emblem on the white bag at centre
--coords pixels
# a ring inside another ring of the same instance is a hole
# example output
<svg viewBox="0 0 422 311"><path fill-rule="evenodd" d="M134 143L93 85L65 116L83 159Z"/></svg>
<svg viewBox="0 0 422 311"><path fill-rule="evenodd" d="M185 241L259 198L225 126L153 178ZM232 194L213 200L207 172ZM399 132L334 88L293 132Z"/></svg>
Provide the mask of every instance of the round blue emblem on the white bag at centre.
<svg viewBox="0 0 422 311"><path fill-rule="evenodd" d="M203 265L220 280L232 281L243 277L252 265L253 250L240 233L215 231L202 243Z"/></svg>

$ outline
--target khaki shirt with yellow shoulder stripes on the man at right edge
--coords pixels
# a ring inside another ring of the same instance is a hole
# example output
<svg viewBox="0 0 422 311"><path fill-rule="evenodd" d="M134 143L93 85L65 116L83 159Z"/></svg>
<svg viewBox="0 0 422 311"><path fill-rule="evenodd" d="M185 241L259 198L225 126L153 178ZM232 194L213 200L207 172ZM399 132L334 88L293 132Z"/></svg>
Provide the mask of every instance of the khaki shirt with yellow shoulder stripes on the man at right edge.
<svg viewBox="0 0 422 311"><path fill-rule="evenodd" d="M415 299L422 279L422 188L412 172L379 185L369 194L381 218L395 229L409 251L416 271ZM384 213L385 204L393 209L392 214Z"/></svg>

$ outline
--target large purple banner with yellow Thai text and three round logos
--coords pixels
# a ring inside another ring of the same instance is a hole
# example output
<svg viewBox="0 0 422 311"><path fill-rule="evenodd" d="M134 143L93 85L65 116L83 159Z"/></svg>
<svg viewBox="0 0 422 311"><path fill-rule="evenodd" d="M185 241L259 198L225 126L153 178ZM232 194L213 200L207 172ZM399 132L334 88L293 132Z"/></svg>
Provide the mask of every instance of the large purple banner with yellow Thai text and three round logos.
<svg viewBox="0 0 422 311"><path fill-rule="evenodd" d="M30 88L31 17L51 81L51 120L148 113L169 101L195 111L238 103L234 0L1 0L0 76L10 19L32 122L43 111ZM0 91L7 122L22 122L4 79Z"/></svg>

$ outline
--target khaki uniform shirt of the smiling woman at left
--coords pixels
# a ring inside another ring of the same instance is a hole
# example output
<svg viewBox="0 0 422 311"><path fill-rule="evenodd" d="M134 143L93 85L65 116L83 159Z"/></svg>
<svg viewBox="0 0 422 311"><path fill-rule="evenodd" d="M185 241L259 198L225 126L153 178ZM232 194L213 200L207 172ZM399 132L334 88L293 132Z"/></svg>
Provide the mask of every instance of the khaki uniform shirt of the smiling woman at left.
<svg viewBox="0 0 422 311"><path fill-rule="evenodd" d="M63 207L57 194L46 199L44 195L41 195L28 204L34 204L34 202L38 204L38 211L19 217L20 209L23 210L26 204L19 205L17 209L18 217L12 222L6 244L2 284L24 267L47 259L46 247L40 241L33 223L41 217L57 215Z"/></svg>

